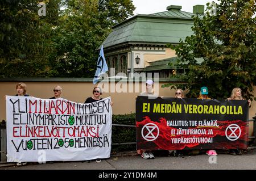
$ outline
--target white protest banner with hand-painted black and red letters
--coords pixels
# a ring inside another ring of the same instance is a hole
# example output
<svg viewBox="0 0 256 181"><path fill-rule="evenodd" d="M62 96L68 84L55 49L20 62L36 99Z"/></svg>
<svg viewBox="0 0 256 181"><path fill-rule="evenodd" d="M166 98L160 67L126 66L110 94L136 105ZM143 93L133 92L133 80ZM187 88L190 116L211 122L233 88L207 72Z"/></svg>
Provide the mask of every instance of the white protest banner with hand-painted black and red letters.
<svg viewBox="0 0 256 181"><path fill-rule="evenodd" d="M7 96L7 162L109 158L111 99L81 104L67 99Z"/></svg>

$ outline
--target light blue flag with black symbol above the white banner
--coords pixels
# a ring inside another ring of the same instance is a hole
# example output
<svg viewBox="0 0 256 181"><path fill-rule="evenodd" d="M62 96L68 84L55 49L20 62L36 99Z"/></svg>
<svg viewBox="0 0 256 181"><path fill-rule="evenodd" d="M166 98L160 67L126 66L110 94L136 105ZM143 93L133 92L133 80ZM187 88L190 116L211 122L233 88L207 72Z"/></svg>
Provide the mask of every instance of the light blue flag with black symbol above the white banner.
<svg viewBox="0 0 256 181"><path fill-rule="evenodd" d="M109 71L109 69L104 57L103 45L101 45L100 55L98 56L98 61L97 61L97 70L93 78L93 84L96 84L100 79L101 74L106 73L106 71Z"/></svg>

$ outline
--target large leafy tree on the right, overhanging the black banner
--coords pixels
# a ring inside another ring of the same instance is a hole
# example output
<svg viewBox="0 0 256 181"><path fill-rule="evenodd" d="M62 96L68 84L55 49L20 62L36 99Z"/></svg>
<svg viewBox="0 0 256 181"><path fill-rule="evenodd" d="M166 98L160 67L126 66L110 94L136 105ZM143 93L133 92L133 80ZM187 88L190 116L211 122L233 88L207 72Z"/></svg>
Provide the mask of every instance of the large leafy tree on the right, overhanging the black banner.
<svg viewBox="0 0 256 181"><path fill-rule="evenodd" d="M207 86L214 99L226 99L234 87L253 96L256 85L256 6L254 0L222 0L216 14L195 15L193 35L176 47L179 67L187 69L185 84L168 84L171 89L189 89L188 97L197 97ZM208 3L208 10L211 10ZM199 63L198 60L203 60Z"/></svg>

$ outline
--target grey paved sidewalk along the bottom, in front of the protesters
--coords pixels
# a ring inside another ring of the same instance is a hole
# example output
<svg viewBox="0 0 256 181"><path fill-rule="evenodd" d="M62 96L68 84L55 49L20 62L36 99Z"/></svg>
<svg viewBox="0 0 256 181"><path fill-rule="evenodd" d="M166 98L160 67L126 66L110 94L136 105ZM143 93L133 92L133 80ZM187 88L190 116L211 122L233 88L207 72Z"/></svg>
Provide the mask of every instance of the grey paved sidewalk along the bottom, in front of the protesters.
<svg viewBox="0 0 256 181"><path fill-rule="evenodd" d="M249 150L242 155L207 154L185 155L184 157L156 156L155 159L143 159L139 155L120 157L112 155L109 159L87 162L54 162L53 164L28 163L26 166L0 167L0 170L255 170L256 150Z"/></svg>

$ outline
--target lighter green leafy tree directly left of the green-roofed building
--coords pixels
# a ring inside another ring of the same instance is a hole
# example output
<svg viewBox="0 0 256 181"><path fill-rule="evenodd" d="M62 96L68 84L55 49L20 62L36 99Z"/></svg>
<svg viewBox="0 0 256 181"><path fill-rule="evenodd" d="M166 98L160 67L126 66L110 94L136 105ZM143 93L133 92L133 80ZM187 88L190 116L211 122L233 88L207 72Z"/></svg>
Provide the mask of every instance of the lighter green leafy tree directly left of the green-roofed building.
<svg viewBox="0 0 256 181"><path fill-rule="evenodd" d="M53 39L52 74L55 77L93 77L98 47L114 23L130 16L134 6L126 1L63 1L57 36Z"/></svg>

